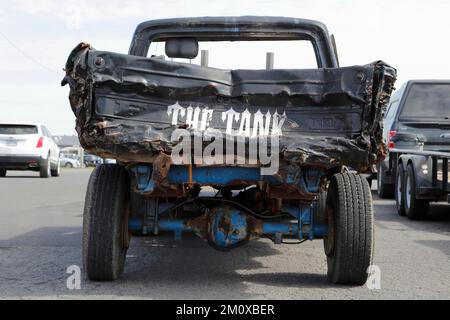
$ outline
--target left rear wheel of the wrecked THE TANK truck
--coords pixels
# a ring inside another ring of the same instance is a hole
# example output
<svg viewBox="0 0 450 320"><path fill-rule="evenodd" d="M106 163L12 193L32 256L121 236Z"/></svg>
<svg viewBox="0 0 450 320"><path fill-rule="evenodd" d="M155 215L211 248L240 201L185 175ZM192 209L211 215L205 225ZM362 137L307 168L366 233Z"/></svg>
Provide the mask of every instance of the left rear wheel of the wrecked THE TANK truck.
<svg viewBox="0 0 450 320"><path fill-rule="evenodd" d="M83 262L90 280L116 280L123 272L129 191L128 172L120 165L101 165L91 174L83 217Z"/></svg>

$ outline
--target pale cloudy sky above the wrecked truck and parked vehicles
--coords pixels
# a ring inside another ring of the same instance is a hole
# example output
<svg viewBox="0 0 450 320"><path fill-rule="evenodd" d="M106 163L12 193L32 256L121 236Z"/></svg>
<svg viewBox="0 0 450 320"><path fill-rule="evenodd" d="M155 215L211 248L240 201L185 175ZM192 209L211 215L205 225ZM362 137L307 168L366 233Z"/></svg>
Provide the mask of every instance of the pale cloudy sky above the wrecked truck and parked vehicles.
<svg viewBox="0 0 450 320"><path fill-rule="evenodd" d="M62 68L79 42L126 53L142 21L271 15L319 20L335 34L341 66L384 60L409 79L450 79L447 0L0 0L0 122L45 123L74 134Z"/></svg>

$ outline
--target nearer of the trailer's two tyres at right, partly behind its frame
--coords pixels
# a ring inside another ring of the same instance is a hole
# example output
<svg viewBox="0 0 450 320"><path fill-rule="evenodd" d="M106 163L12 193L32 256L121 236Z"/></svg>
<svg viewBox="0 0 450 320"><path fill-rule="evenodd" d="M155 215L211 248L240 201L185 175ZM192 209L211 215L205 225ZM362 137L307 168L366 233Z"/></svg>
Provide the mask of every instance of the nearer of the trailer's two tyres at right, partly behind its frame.
<svg viewBox="0 0 450 320"><path fill-rule="evenodd" d="M403 198L405 203L405 213L410 220L422 220L428 214L430 202L428 200L416 198L416 176L411 164L406 169L405 189Z"/></svg>

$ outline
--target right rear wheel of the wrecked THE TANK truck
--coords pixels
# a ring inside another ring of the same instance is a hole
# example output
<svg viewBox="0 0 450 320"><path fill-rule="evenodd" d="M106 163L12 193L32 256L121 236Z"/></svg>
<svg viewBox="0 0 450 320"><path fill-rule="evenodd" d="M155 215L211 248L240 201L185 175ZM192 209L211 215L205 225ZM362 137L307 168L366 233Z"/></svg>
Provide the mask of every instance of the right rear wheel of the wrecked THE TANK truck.
<svg viewBox="0 0 450 320"><path fill-rule="evenodd" d="M328 279L363 285L373 256L372 194L366 179L339 173L331 179L327 197L328 235L324 238Z"/></svg>

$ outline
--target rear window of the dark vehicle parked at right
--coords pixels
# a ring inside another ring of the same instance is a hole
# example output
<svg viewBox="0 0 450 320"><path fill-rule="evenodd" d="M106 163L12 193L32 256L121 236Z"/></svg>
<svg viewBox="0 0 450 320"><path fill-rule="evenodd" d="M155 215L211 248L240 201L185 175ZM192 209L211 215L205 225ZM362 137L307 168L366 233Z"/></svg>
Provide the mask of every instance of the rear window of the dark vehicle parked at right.
<svg viewBox="0 0 450 320"><path fill-rule="evenodd" d="M402 118L450 118L450 84L413 84Z"/></svg>

